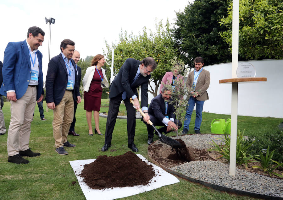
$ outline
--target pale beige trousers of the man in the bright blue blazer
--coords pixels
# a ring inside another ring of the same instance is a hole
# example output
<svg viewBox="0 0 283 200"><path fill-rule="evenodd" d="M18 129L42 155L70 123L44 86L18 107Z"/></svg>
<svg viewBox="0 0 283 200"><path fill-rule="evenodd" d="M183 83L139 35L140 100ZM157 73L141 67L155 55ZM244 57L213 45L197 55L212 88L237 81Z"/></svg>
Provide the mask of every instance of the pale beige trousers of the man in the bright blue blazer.
<svg viewBox="0 0 283 200"><path fill-rule="evenodd" d="M11 121L8 130L8 156L19 154L29 149L31 122L36 105L36 87L28 86L24 96L17 101L10 101Z"/></svg>

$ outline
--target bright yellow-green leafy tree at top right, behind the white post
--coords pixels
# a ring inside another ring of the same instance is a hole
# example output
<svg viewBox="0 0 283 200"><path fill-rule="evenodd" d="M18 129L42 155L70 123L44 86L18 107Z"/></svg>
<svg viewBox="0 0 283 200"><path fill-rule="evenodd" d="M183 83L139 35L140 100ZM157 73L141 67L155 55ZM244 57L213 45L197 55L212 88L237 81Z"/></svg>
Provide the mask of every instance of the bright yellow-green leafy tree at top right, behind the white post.
<svg viewBox="0 0 283 200"><path fill-rule="evenodd" d="M283 58L283 2L240 0L239 55L245 59ZM221 20L221 37L232 46L232 3Z"/></svg>

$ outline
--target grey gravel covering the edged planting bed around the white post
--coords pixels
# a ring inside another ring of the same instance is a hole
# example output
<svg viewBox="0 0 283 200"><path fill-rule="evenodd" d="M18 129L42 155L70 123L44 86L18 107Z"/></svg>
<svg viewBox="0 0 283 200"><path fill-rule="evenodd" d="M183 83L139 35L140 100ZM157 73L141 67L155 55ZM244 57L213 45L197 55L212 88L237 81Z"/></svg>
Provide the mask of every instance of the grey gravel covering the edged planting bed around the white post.
<svg viewBox="0 0 283 200"><path fill-rule="evenodd" d="M215 137L215 138L214 138ZM222 135L184 135L182 140L187 146L205 149L211 145L208 144L212 139L216 143L221 143ZM236 168L236 176L229 175L229 165L218 161L192 161L171 168L185 176L212 183L231 189L253 192L257 194L282 197L283 198L283 180L271 178L268 176L251 173Z"/></svg>

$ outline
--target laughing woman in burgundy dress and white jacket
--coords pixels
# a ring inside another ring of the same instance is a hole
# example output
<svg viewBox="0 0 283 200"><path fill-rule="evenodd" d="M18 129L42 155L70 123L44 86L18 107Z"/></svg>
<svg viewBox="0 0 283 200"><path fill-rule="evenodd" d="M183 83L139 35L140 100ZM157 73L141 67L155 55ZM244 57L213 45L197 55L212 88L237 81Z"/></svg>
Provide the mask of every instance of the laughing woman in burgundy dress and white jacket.
<svg viewBox="0 0 283 200"><path fill-rule="evenodd" d="M108 88L108 80L105 75L105 69L102 68L105 59L101 54L92 58L91 67L86 69L83 78L84 109L86 110L86 120L88 124L88 134L93 136L92 132L92 111L95 121L94 132L103 135L99 130L99 111L101 104L102 88Z"/></svg>

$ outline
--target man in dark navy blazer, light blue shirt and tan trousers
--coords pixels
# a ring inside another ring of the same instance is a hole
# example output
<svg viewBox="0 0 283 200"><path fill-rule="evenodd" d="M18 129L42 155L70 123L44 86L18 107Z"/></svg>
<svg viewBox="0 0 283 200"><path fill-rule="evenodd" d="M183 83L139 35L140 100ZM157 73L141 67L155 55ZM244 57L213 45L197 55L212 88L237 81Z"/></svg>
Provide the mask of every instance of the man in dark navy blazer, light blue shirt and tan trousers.
<svg viewBox="0 0 283 200"><path fill-rule="evenodd" d="M75 42L65 39L60 45L61 53L48 63L46 75L46 103L53 110L53 138L55 151L68 154L64 147L75 147L67 140L69 128L74 117L74 100L80 103L80 91L76 64L72 59ZM64 146L64 147L63 147Z"/></svg>

